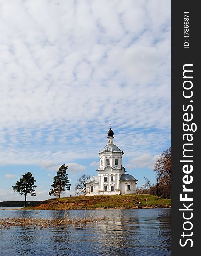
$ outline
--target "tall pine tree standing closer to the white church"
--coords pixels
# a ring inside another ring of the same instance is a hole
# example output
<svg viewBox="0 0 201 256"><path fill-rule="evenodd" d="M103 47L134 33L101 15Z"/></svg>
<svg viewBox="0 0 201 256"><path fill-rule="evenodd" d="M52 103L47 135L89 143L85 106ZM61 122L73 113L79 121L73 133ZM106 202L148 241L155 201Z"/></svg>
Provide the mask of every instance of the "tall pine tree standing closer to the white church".
<svg viewBox="0 0 201 256"><path fill-rule="evenodd" d="M67 177L67 170L68 166L65 166L65 164L59 167L59 171L57 172L57 175L54 177L53 184L51 185L53 189L50 189L49 195L54 195L60 198L61 193L65 191L65 188L67 190L70 190L71 184L70 180Z"/></svg>

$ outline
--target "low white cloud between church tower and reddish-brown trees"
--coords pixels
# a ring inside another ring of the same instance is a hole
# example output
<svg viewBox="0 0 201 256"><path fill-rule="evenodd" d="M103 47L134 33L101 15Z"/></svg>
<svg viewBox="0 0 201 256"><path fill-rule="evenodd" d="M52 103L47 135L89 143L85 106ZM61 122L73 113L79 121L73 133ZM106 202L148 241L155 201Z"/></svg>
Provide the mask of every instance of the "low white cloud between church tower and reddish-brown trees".
<svg viewBox="0 0 201 256"><path fill-rule="evenodd" d="M133 157L129 160L129 163L125 166L127 168L143 168L148 167L149 169L153 169L154 164L156 163L159 155L151 156L149 154L143 154L139 157Z"/></svg>

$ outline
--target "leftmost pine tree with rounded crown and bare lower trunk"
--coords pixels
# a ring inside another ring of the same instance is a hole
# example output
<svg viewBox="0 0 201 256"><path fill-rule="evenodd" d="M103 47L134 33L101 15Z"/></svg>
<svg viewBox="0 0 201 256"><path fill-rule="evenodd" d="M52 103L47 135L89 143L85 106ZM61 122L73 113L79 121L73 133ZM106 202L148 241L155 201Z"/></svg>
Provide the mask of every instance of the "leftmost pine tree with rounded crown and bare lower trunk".
<svg viewBox="0 0 201 256"><path fill-rule="evenodd" d="M19 181L16 182L15 186L12 186L15 192L25 195L24 207L26 206L27 194L31 194L31 196L36 195L36 193L34 193L34 188L36 188L34 183L36 180L34 180L34 177L32 176L33 174L31 172L27 172Z"/></svg>

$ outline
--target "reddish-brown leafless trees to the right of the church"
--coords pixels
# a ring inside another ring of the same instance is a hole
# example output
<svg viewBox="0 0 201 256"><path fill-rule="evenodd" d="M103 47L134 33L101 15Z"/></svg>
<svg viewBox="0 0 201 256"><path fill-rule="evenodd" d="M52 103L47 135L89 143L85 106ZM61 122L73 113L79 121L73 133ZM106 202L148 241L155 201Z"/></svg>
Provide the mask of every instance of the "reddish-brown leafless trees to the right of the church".
<svg viewBox="0 0 201 256"><path fill-rule="evenodd" d="M144 177L146 183L138 188L139 194L152 194L162 198L171 198L172 186L172 151L171 147L158 157L153 171L156 172L156 184Z"/></svg>

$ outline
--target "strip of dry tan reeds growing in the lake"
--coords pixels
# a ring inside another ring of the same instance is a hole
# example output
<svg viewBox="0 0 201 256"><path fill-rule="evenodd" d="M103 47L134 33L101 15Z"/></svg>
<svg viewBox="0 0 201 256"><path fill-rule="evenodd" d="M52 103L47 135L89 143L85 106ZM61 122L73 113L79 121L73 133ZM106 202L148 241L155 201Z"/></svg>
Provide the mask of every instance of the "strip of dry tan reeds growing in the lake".
<svg viewBox="0 0 201 256"><path fill-rule="evenodd" d="M99 221L107 220L107 218L97 218L88 215L85 218L71 217L65 214L62 218L42 218L36 214L34 218L0 218L0 230L10 229L11 227L33 227L34 229L43 229L51 227L75 227L82 228L88 223L98 223Z"/></svg>

